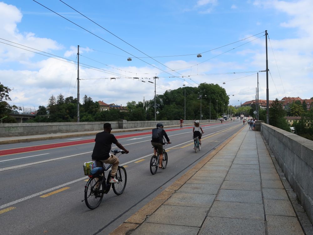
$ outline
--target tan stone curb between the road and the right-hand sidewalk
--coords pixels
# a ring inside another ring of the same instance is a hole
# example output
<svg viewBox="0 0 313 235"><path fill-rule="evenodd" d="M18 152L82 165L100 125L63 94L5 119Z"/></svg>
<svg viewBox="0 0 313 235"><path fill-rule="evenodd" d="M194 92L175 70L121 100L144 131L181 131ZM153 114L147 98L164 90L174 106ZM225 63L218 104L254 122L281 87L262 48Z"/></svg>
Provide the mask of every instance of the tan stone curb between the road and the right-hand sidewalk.
<svg viewBox="0 0 313 235"><path fill-rule="evenodd" d="M224 148L238 133L240 133L245 127L240 128L239 131L234 133L232 136L228 137L222 144L218 145L211 153L205 156L200 162L198 162L192 169L188 170L184 175L182 175L178 180L176 180L172 185L168 186L159 195L153 198L145 206L139 209L135 214L129 217L124 223L113 230L109 235L120 235L120 234L130 234L131 231L135 230L139 225L141 225L146 218L150 217L153 212L155 212L168 198L172 196L175 191L177 191L182 185L184 185L198 170L200 170L210 159L213 158L221 149Z"/></svg>

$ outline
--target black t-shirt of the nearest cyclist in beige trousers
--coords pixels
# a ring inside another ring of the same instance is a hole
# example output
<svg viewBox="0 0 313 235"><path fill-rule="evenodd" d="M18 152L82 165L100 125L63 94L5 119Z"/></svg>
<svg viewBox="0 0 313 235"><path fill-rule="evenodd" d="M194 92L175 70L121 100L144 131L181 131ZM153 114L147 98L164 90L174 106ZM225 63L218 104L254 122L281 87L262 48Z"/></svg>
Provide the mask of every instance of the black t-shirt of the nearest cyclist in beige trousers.
<svg viewBox="0 0 313 235"><path fill-rule="evenodd" d="M113 134L108 132L100 132L96 134L95 147L92 151L91 158L93 160L105 160L110 156L112 144L116 144L117 139Z"/></svg>

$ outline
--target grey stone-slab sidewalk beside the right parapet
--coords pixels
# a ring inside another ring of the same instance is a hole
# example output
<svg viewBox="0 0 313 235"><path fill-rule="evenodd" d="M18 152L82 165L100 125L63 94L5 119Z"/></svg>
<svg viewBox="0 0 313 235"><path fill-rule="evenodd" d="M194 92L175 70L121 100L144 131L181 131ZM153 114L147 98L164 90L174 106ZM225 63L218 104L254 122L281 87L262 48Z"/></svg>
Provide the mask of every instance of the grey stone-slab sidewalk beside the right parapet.
<svg viewBox="0 0 313 235"><path fill-rule="evenodd" d="M305 212L274 163L261 133L243 128L126 234L304 234Z"/></svg>

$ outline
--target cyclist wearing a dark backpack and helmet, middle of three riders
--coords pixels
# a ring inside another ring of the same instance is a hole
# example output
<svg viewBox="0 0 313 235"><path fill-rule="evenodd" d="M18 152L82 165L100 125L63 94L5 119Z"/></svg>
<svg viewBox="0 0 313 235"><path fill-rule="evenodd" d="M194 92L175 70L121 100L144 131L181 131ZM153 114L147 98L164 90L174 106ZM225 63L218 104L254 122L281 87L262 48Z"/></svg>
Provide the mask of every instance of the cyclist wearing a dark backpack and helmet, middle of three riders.
<svg viewBox="0 0 313 235"><path fill-rule="evenodd" d="M166 138L167 144L171 144L170 139L167 136L167 133L163 129L163 124L162 123L157 123L156 128L152 129L152 140L151 144L154 147L154 155L156 156L156 149L160 155L160 160L159 160L159 168L164 169L162 167L162 160L163 160L163 140L164 137Z"/></svg>

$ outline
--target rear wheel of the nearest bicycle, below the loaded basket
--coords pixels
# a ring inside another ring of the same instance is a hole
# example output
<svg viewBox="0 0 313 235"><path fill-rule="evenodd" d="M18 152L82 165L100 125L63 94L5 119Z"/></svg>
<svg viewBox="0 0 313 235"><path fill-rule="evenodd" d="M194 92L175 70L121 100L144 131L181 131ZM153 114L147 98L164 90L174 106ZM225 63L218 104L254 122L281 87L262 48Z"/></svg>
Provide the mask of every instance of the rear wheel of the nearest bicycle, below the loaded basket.
<svg viewBox="0 0 313 235"><path fill-rule="evenodd" d="M102 182L100 187L95 188L95 186L100 182L101 178L91 177L85 185L85 203L86 206L91 210L97 208L100 205L104 195L103 189L105 182ZM99 193L99 191L102 191L102 193Z"/></svg>

